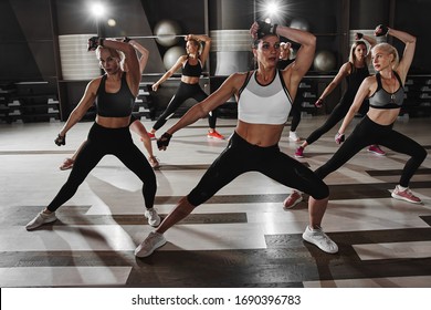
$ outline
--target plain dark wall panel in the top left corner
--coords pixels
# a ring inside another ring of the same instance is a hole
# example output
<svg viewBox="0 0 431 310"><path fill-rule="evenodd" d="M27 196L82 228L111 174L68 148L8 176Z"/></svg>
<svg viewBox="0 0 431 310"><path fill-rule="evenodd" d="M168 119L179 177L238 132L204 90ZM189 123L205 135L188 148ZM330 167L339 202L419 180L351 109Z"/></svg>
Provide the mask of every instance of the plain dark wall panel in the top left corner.
<svg viewBox="0 0 431 310"><path fill-rule="evenodd" d="M0 81L54 79L49 0L0 1Z"/></svg>

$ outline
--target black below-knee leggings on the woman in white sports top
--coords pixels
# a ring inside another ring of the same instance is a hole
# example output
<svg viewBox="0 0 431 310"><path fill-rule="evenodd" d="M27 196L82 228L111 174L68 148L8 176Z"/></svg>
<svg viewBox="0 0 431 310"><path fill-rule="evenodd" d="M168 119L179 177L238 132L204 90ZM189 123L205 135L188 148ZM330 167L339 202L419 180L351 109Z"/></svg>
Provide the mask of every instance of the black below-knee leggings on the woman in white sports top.
<svg viewBox="0 0 431 310"><path fill-rule="evenodd" d="M315 199L329 196L328 186L302 163L282 153L278 145L252 145L234 132L227 148L212 163L187 199L192 206L199 206L246 172L262 173L287 187L309 194Z"/></svg>

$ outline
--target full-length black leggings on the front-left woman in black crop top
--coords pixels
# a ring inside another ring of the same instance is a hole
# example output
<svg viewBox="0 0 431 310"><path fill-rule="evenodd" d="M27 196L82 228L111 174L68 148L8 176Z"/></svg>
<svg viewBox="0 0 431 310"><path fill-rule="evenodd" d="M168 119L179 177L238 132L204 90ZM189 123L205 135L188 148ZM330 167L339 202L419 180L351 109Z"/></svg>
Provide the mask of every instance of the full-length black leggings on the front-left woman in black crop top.
<svg viewBox="0 0 431 310"><path fill-rule="evenodd" d="M146 208L154 206L157 183L156 175L145 155L134 144L128 127L106 128L94 123L87 141L81 148L66 183L48 206L55 211L76 193L90 172L105 155L112 154L134 172L143 184L143 195Z"/></svg>

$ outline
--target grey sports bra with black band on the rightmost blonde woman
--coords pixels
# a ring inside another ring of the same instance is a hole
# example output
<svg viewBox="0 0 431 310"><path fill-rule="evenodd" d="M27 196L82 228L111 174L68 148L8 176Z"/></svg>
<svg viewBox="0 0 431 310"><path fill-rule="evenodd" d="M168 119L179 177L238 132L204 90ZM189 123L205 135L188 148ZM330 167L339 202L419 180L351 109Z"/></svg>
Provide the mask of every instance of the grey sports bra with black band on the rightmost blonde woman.
<svg viewBox="0 0 431 310"><path fill-rule="evenodd" d="M395 93L389 93L381 85L381 75L379 72L376 73L377 90L369 97L369 106L374 108L400 108L404 100L404 89L401 83L401 79L396 71L393 71L400 87Z"/></svg>

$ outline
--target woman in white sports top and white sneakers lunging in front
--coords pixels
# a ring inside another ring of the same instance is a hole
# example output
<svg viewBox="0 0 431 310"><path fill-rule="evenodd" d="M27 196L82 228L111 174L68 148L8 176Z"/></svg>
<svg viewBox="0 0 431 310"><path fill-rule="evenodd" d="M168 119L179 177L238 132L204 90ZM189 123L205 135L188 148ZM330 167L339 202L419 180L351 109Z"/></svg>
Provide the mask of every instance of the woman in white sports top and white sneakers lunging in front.
<svg viewBox="0 0 431 310"><path fill-rule="evenodd" d="M271 25L263 21L254 22L250 32L254 40L253 53L257 70L230 75L219 90L191 107L158 140L159 149L166 149L172 134L204 117L235 95L239 120L229 145L190 194L181 198L156 231L150 232L136 248L137 257L147 257L165 245L162 234L166 230L246 172L260 172L285 186L301 188L309 194L309 225L303 238L325 252L338 251L337 245L320 227L329 196L328 186L278 147L298 84L313 62L316 38L303 30ZM278 35L301 44L295 61L282 71L277 70Z"/></svg>

